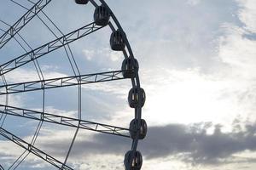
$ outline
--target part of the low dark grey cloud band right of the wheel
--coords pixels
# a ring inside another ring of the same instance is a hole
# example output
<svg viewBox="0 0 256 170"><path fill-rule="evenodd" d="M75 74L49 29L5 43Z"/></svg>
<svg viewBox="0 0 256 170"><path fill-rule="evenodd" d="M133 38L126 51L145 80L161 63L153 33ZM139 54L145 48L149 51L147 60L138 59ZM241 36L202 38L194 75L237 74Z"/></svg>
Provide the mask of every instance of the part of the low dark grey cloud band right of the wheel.
<svg viewBox="0 0 256 170"><path fill-rule="evenodd" d="M148 158L186 153L186 159L195 163L215 163L230 158L243 150L256 150L256 124L233 125L233 131L222 133L221 126L214 126L207 134L211 123L192 126L179 124L148 129L148 139L142 143L143 154Z"/></svg>

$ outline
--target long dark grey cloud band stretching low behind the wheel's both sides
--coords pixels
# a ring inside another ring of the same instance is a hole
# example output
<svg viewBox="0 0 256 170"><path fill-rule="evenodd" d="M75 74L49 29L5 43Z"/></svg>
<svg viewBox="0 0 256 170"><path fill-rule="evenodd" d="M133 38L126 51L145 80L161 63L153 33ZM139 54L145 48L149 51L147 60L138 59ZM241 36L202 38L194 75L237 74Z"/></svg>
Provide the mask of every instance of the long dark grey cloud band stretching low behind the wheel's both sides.
<svg viewBox="0 0 256 170"><path fill-rule="evenodd" d="M213 128L208 134L207 129ZM139 144L143 156L147 159L177 156L181 154L184 161L194 163L214 164L224 162L232 154L243 150L256 150L256 123L247 123L243 130L235 123L233 131L222 133L221 126L212 123L197 123L191 126L170 124L163 127L149 127L148 136ZM73 148L73 156L90 154L124 155L129 150L131 141L121 137L96 134L91 141L77 141ZM54 151L53 154L62 155L63 148L69 143L44 144L44 148ZM181 158L181 157L179 157Z"/></svg>

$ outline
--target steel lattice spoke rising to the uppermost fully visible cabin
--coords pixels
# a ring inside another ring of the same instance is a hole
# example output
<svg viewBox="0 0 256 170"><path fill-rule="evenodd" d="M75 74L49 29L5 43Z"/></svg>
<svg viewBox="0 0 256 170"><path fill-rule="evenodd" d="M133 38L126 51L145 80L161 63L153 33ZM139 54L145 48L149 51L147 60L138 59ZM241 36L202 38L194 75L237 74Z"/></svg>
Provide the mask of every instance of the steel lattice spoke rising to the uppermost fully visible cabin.
<svg viewBox="0 0 256 170"><path fill-rule="evenodd" d="M55 39L54 41L45 43L39 48L35 48L32 51L22 54L15 59L11 59L8 62L0 65L0 76L4 75L9 71L13 71L21 65L26 65L34 59L38 59L45 54L49 54L50 52L61 48L70 42L74 42L81 37L85 37L90 33L101 29L104 26L96 26L95 22L90 23L89 25L83 26L75 31L72 31L62 37Z"/></svg>

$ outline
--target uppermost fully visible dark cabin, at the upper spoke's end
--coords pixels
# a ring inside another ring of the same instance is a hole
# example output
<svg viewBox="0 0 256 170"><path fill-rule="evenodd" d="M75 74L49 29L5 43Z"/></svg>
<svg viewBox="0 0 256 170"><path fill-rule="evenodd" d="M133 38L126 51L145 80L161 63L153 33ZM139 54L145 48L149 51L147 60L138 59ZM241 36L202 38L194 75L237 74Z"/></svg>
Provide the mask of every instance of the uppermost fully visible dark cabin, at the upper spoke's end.
<svg viewBox="0 0 256 170"><path fill-rule="evenodd" d="M107 26L109 19L110 19L110 14L108 11L108 8L104 6L98 6L95 11L94 11L94 21L97 26Z"/></svg>

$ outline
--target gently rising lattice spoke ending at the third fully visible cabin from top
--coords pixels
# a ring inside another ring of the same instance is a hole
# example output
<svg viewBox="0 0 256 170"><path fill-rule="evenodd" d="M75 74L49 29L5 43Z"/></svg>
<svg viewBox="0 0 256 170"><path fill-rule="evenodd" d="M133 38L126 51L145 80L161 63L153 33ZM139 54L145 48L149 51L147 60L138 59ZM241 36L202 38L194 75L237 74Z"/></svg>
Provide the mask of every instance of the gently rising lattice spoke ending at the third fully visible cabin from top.
<svg viewBox="0 0 256 170"><path fill-rule="evenodd" d="M0 95L16 94L23 92L30 92L46 88L62 88L67 86L75 86L79 84L89 84L96 82L109 82L114 80L125 79L123 77L124 71L108 71L101 73L94 73L88 75L80 75L73 77L58 77L52 79L38 80L32 82L20 82L14 84L6 84L0 86Z"/></svg>

